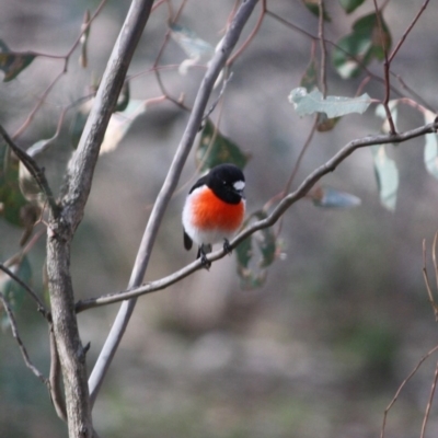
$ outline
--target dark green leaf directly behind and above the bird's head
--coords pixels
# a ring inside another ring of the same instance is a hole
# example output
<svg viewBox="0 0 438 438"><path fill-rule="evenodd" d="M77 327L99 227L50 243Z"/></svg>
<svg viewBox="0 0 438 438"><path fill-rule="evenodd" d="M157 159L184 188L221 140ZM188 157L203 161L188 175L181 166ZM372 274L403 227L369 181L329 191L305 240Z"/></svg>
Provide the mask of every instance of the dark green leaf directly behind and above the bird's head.
<svg viewBox="0 0 438 438"><path fill-rule="evenodd" d="M239 146L229 138L222 136L210 120L206 120L195 159L200 172L205 172L222 163L233 163L243 169L250 155L242 152Z"/></svg>

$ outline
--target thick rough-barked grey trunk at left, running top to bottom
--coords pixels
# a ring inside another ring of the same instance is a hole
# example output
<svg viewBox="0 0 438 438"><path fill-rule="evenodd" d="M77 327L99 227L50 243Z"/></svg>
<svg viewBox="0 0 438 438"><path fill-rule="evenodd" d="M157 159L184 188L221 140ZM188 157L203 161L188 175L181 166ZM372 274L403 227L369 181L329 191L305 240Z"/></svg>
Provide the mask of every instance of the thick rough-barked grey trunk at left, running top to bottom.
<svg viewBox="0 0 438 438"><path fill-rule="evenodd" d="M125 81L130 60L148 21L153 0L132 0L103 74L93 107L61 189L59 217L49 215L47 274L57 353L66 392L67 418L71 438L95 436L87 380L85 355L74 313L70 274L70 244L82 219L94 168L110 117Z"/></svg>

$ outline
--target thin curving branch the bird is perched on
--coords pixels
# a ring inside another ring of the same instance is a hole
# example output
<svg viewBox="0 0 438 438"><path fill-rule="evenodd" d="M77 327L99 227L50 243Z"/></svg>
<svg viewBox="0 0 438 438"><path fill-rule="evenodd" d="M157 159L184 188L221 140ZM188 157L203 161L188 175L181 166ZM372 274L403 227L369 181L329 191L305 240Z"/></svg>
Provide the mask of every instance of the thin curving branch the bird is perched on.
<svg viewBox="0 0 438 438"><path fill-rule="evenodd" d="M303 198L309 191L313 187L313 185L321 180L325 174L333 172L338 164L341 164L346 158L348 158L356 149L365 148L372 145L383 145L383 143L401 143L403 141L411 140L413 138L424 136L426 134L436 132L438 129L438 122L433 124L427 124L420 126L418 128L396 134L396 135L378 135L378 136L368 136L361 139L353 140L347 143L344 148L342 148L334 157L332 157L324 164L315 169L312 173L308 175L308 177L300 184L300 186L288 196L283 198L283 200L274 208L274 210L267 216L267 218L260 220L257 222L252 223L249 228L243 230L239 235L237 235L231 242L230 245L232 249L239 245L243 240L249 238L254 232L262 230L264 228L273 226L284 214L299 199ZM223 249L212 252L207 255L207 260L209 262L215 262L219 258L222 258L227 255ZM146 293L151 293L157 290L165 289L166 287L180 281L181 279L187 277L193 274L195 270L201 268L200 260L197 260L189 265L183 267L169 275L168 277L161 278L155 281L147 283L146 285L135 288L131 287L123 292L110 293L106 296L102 296L99 298L90 298L88 300L78 301L76 304L77 312L82 312L87 309L92 309L100 306L112 304L118 301L134 299L140 297Z"/></svg>

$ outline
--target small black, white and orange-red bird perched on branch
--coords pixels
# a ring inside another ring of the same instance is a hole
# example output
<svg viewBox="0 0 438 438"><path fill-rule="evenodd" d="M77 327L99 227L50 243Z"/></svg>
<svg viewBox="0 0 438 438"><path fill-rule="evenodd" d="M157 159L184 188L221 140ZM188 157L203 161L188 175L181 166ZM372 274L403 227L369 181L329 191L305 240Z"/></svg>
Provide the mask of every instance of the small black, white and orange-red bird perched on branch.
<svg viewBox="0 0 438 438"><path fill-rule="evenodd" d="M245 216L245 177L234 164L212 168L191 188L183 207L184 247L198 245L196 258L207 270L211 266L206 254L214 243L223 240L223 250L231 253L229 239L240 229Z"/></svg>

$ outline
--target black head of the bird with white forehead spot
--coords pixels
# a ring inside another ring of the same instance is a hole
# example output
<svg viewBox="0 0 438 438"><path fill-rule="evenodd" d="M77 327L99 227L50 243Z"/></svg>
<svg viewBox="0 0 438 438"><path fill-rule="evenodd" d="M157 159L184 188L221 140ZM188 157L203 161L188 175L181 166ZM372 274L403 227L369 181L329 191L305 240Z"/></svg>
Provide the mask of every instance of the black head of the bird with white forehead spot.
<svg viewBox="0 0 438 438"><path fill-rule="evenodd" d="M244 198L245 177L234 164L219 164L207 175L207 185L229 204L239 204Z"/></svg>

